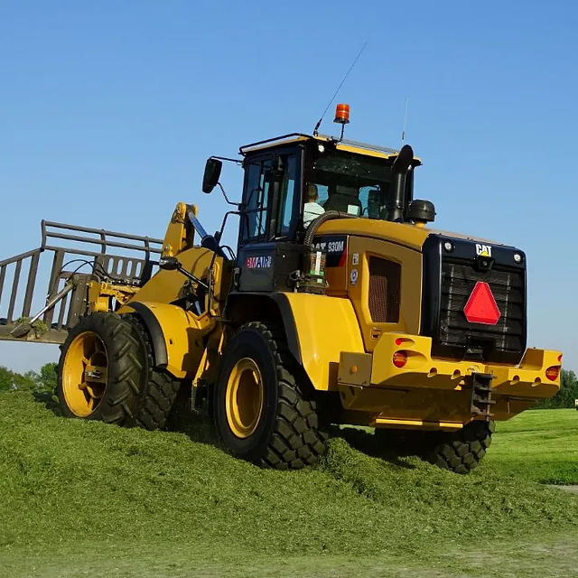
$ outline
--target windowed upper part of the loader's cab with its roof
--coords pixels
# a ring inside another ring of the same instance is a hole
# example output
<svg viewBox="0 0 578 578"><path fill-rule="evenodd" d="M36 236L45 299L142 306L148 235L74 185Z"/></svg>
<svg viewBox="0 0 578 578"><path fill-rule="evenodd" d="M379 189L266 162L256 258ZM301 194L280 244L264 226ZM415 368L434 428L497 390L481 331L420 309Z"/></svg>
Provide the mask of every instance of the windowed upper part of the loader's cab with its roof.
<svg viewBox="0 0 578 578"><path fill-rule="evenodd" d="M239 152L244 157L242 210L246 215L239 245L299 242L308 202L316 202L320 212L337 210L359 218L396 220L392 176L399 151L295 133L242 146ZM404 210L413 200L413 172L420 164L412 158L404 175ZM310 191L317 192L316 200L310 199Z"/></svg>

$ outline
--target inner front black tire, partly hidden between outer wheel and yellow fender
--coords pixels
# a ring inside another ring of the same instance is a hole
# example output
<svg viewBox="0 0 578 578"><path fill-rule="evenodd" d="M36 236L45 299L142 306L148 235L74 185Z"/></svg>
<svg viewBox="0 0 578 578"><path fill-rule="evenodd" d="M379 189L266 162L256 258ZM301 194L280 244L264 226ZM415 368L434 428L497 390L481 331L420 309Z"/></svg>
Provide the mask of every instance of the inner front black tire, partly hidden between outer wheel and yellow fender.
<svg viewBox="0 0 578 578"><path fill-rule="evenodd" d="M123 315L123 319L130 323L140 343L143 363L141 379L144 387L130 424L151 431L163 429L182 382L155 367L153 346L144 323L136 315Z"/></svg>

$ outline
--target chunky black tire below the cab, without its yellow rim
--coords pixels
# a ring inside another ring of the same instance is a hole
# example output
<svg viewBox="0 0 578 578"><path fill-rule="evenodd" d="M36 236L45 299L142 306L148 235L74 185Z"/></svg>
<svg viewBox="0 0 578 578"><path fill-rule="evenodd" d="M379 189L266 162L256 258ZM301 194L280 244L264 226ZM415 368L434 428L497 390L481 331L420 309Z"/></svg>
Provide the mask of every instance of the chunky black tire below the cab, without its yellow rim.
<svg viewBox="0 0 578 578"><path fill-rule="evenodd" d="M227 414L229 377L242 359L252 360L263 385L262 411L255 430L244 438L233 432ZM238 330L223 354L212 399L215 429L229 452L277 470L300 469L320 459L326 451L328 427L318 415L310 390L300 387L304 377L298 378L299 373L283 331L260 322Z"/></svg>

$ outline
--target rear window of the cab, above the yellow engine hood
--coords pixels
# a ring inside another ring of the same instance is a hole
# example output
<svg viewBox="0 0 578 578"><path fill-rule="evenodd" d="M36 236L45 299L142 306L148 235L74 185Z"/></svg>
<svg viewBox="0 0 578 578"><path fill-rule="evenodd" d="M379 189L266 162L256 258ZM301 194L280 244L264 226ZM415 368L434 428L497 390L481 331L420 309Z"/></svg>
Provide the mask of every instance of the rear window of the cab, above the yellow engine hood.
<svg viewBox="0 0 578 578"><path fill-rule="evenodd" d="M368 219L387 219L391 166L379 158L335 151L313 163L317 203Z"/></svg>

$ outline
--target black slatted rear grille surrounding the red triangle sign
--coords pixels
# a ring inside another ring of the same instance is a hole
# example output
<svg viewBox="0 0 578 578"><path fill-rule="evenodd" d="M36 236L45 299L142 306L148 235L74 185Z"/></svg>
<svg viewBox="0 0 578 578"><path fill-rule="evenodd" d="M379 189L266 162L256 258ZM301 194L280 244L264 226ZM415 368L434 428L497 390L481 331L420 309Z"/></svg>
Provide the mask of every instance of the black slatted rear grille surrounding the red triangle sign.
<svg viewBox="0 0 578 578"><path fill-rule="evenodd" d="M501 316L496 325L467 321L463 308L476 282L489 284ZM526 280L523 269L494 265L480 272L463 262L444 261L438 344L459 348L463 357L508 360L526 349Z"/></svg>

